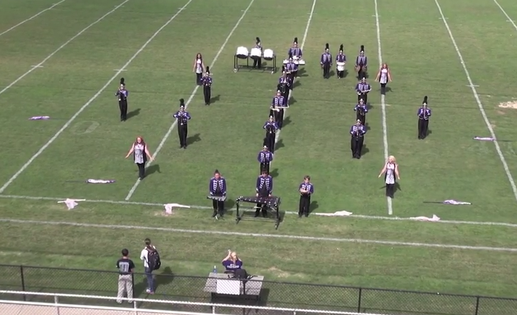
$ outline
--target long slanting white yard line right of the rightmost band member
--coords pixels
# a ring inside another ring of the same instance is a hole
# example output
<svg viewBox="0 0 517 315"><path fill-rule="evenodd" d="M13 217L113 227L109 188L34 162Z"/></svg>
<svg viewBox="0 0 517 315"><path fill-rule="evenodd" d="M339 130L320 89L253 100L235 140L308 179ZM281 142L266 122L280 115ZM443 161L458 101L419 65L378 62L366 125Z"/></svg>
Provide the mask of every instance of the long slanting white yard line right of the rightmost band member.
<svg viewBox="0 0 517 315"><path fill-rule="evenodd" d="M458 48L458 44L456 44L456 41L452 35L451 28L449 28L449 23L447 23L447 20L445 19L444 13L442 11L442 7L440 7L440 3L438 3L438 0L435 0L436 6L438 7L438 11L440 11L440 15L442 16L442 21L444 22L445 28L447 29L447 32L449 32L449 37L451 37L451 41L453 43L454 49L456 50L456 53L458 53L458 57L460 57L461 65L463 67L463 70L465 71L465 75L467 76L467 79L469 80L469 87L472 90L472 93L474 95L474 98L476 98L476 102L478 102L478 107L481 112L481 115L483 117L483 120L485 120L485 124L487 125L487 128L490 132L491 137L496 139L496 133L493 131L493 128L488 120L487 113L485 113L485 108L483 107L483 104L481 103L481 99L478 94L478 90L476 90L476 86L473 84L471 76L469 74L469 70L467 70L467 66L465 65L465 61L463 59L462 54L460 53L460 48ZM513 176L511 175L510 169L508 167L508 164L505 159L505 155L502 154L501 148L498 144L498 142L493 141L493 144L496 146L496 151L499 155L499 159L501 160L502 166L505 169L506 175L508 177L508 180L511 185L511 189L514 191L514 197L517 200L517 187L514 181Z"/></svg>

